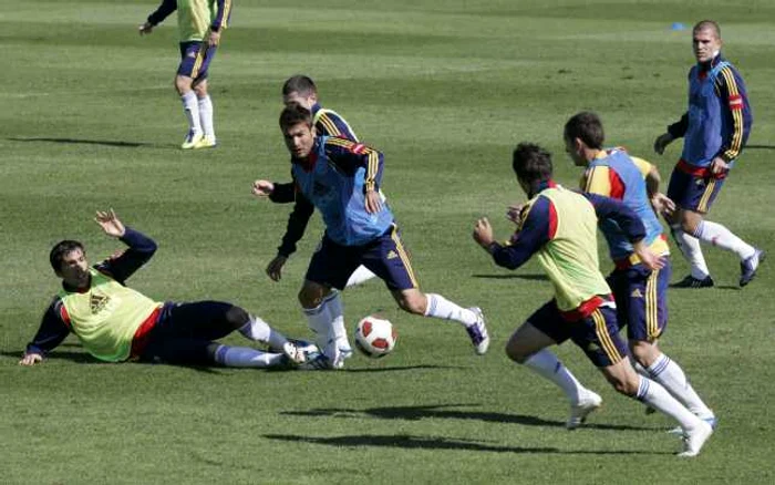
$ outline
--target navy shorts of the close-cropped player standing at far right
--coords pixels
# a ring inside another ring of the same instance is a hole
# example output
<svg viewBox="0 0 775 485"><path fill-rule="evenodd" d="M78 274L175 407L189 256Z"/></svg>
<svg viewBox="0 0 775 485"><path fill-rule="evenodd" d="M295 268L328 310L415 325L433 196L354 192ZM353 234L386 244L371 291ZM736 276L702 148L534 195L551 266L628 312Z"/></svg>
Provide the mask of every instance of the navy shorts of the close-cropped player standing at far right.
<svg viewBox="0 0 775 485"><path fill-rule="evenodd" d="M682 209L707 213L713 205L726 174L714 176L709 169L680 161L670 176L668 197Z"/></svg>

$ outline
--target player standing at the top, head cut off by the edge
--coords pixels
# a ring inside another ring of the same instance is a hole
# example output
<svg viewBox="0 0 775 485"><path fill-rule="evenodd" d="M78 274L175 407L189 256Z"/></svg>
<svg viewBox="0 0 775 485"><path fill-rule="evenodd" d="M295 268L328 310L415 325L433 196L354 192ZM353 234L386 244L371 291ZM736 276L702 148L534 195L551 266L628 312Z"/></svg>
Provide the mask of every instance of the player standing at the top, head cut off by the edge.
<svg viewBox="0 0 775 485"><path fill-rule="evenodd" d="M180 64L175 89L183 102L188 132L183 149L211 148L217 144L213 123L213 100L208 93L207 71L231 17L231 0L162 0L162 4L140 25L140 34L149 34L177 10Z"/></svg>

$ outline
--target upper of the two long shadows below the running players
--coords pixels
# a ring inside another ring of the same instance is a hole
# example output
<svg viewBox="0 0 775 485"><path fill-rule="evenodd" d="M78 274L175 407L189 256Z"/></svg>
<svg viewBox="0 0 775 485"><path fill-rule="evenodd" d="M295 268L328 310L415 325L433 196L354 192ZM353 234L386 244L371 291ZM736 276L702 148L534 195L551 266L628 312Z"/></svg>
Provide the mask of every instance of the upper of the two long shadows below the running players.
<svg viewBox="0 0 775 485"><path fill-rule="evenodd" d="M459 411L448 407L471 407L478 404L437 404L425 406L391 406L391 407L369 407L365 410L345 407L313 409L309 411L283 411L280 414L291 416L333 416L333 417L358 417L366 416L381 420L407 420L418 421L426 417L452 419L452 420L476 420L487 423L520 424L523 426L548 426L565 427L565 422L548 421L537 416L524 414L493 413L485 411ZM624 424L585 424L583 427L592 430L614 430L614 431L644 431L649 427L630 426Z"/></svg>

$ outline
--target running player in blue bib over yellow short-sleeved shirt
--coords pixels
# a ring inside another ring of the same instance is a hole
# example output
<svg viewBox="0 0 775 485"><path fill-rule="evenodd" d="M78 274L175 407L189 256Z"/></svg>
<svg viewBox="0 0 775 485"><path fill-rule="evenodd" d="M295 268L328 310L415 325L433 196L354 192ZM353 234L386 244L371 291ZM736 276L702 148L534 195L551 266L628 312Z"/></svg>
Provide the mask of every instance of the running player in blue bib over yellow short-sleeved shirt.
<svg viewBox="0 0 775 485"><path fill-rule="evenodd" d="M619 324L627 326L630 350L639 364L636 368L715 426L713 412L694 391L681 367L658 347L668 326L671 268L670 249L654 208L666 211L674 208L672 200L659 192L659 171L623 148L603 148L606 136L596 113L571 116L565 125L564 138L566 152L576 166L585 167L581 189L620 200L634 211L645 227L643 242L663 261L662 268L648 268L613 220L600 221L614 264L608 283L613 289Z"/></svg>

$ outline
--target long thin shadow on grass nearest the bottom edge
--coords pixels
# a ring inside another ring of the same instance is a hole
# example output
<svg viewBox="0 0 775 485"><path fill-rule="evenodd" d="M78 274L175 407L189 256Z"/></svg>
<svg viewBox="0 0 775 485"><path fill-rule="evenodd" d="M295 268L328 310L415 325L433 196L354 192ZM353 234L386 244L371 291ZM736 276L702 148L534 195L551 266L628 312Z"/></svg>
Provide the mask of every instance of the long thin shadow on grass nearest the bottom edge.
<svg viewBox="0 0 775 485"><path fill-rule="evenodd" d="M497 446L494 444L488 444L484 441L464 441L464 440L451 440L446 437L428 437L428 436L412 436L409 434L401 435L368 435L368 434L356 434L349 436L331 436L331 437L316 437L316 436L298 436L288 434L265 434L264 437L268 440L278 441L290 441L290 442L302 442L312 444L322 444L329 446L382 446L382 447L394 447L404 450L459 450L459 451L473 451L473 452L493 452L493 453L556 453L562 455L641 455L641 454L655 454L663 455L668 453L650 453L642 451L627 451L627 450L559 450L556 447L529 447L529 446Z"/></svg>

